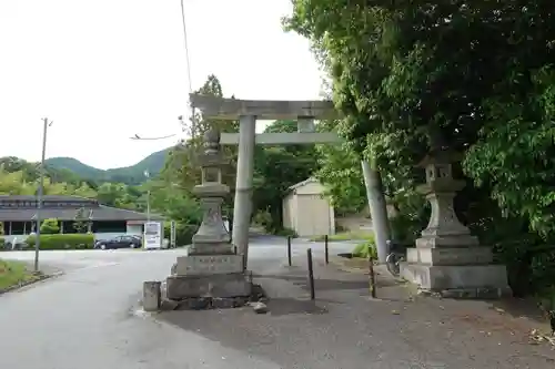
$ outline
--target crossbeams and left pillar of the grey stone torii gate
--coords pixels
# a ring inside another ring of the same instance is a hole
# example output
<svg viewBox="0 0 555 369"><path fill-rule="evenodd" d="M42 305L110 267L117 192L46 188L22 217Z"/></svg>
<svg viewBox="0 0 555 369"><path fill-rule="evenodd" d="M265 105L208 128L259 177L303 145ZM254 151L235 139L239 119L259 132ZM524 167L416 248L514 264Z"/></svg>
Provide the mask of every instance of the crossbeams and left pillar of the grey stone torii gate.
<svg viewBox="0 0 555 369"><path fill-rule="evenodd" d="M340 143L341 139L334 132L314 130L314 120L336 119L339 114L329 101L236 100L199 94L191 94L190 101L206 119L240 122L239 133L221 133L220 143L239 145L232 239L238 252L243 255L246 268L254 145ZM296 120L299 132L256 134L256 120Z"/></svg>

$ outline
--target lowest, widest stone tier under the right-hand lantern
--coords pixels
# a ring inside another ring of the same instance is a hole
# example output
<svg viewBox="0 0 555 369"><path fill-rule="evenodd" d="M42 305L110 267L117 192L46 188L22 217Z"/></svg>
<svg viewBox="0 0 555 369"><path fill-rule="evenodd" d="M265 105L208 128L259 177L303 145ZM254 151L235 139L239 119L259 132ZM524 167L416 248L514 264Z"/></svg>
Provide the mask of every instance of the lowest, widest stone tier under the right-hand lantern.
<svg viewBox="0 0 555 369"><path fill-rule="evenodd" d="M504 265L422 265L401 264L401 276L417 284L422 289L448 294L450 297L478 298L486 293L490 297L511 294L507 270ZM467 296L465 296L467 295Z"/></svg>

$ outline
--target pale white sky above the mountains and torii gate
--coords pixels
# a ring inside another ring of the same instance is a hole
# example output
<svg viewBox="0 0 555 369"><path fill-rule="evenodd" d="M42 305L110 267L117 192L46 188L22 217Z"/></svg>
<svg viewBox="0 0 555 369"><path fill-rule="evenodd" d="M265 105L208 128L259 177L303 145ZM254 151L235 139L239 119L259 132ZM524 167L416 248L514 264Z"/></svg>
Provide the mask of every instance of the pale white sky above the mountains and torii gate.
<svg viewBox="0 0 555 369"><path fill-rule="evenodd" d="M193 90L215 74L226 96L320 99L309 42L281 25L290 0L184 8ZM180 0L0 0L0 156L39 161L43 117L47 157L111 168L171 146L189 113L183 44Z"/></svg>

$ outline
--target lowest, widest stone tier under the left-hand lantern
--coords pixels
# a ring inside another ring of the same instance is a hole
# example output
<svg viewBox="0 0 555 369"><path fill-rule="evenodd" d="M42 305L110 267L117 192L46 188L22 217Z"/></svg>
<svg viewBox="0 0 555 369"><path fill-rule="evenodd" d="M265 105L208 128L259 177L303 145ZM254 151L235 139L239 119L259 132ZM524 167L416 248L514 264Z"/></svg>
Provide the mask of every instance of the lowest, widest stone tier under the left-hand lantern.
<svg viewBox="0 0 555 369"><path fill-rule="evenodd" d="M170 276L167 279L167 296L172 300L190 297L240 297L250 296L252 284L244 273L203 276Z"/></svg>

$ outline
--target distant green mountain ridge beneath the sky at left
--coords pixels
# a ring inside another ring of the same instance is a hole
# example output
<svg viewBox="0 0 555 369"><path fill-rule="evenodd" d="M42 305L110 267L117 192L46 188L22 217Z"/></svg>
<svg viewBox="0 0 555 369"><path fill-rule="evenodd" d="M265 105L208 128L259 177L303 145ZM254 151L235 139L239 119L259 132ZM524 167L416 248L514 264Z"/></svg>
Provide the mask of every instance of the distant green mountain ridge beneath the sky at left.
<svg viewBox="0 0 555 369"><path fill-rule="evenodd" d="M138 185L147 180L144 172L149 172L151 176L154 176L162 171L165 156L171 148L172 147L169 147L150 154L135 165L105 171L83 164L73 157L51 157L48 158L44 164L51 168L71 171L82 178L92 180L94 182L120 182Z"/></svg>

